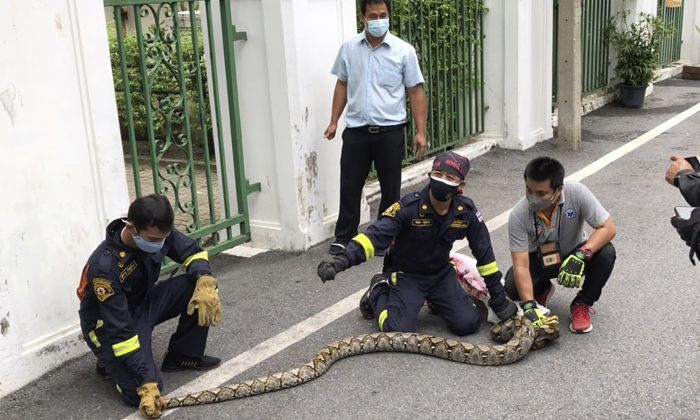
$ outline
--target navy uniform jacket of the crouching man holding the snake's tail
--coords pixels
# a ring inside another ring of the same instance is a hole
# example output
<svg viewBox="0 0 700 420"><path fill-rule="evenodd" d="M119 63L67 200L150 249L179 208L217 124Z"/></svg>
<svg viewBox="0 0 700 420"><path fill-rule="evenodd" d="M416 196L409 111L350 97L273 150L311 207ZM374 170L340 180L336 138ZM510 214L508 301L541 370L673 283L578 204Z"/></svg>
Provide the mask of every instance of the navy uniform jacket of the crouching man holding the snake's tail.
<svg viewBox="0 0 700 420"><path fill-rule="evenodd" d="M211 268L207 252L176 229L159 252L149 254L122 243L120 234L124 225L123 220L115 220L107 226L107 238L83 268L77 290L80 325L85 338L96 347L110 346L139 383L156 381L157 368L151 351L139 344L134 322L136 311L158 281L166 256L183 264L192 281L202 274L211 274ZM97 328L104 328L109 342L99 342L94 332Z"/></svg>

